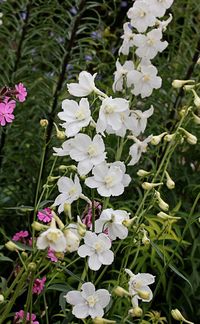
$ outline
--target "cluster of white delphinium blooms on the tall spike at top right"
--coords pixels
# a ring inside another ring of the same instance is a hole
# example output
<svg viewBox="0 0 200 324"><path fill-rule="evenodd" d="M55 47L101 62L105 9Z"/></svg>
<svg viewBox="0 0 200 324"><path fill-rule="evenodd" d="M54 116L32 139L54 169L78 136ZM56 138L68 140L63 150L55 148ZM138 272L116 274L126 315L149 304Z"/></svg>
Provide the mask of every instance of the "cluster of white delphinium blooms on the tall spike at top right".
<svg viewBox="0 0 200 324"><path fill-rule="evenodd" d="M161 41L162 32L172 20L172 15L165 21L160 21L174 0L136 0L128 10L130 22L124 24L123 43L119 54L129 55L133 49L136 62L125 61L122 65L116 62L113 91L123 91L124 83L135 95L149 97L153 89L159 89L162 79L157 76L157 69L151 60L161 53L168 45ZM150 28L150 29L149 29ZM135 30L137 32L135 32Z"/></svg>

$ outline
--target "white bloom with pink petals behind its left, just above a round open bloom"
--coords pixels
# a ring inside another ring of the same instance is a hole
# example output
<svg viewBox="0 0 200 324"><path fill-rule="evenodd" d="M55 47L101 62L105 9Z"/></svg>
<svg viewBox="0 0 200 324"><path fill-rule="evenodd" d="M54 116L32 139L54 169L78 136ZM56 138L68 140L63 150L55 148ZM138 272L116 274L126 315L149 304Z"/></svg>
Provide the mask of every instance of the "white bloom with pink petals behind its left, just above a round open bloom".
<svg viewBox="0 0 200 324"><path fill-rule="evenodd" d="M111 240L117 237L121 240L128 235L128 229L123 225L123 221L129 219L129 213L125 210L104 209L99 219L95 221L95 232L101 233L108 230L108 236Z"/></svg>

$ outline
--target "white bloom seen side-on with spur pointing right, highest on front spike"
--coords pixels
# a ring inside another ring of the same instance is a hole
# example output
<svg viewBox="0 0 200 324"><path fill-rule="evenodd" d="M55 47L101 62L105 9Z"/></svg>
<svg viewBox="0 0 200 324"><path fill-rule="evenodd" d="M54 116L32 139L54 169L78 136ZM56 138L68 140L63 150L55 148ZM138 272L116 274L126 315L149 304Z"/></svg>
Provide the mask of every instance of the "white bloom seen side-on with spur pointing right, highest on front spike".
<svg viewBox="0 0 200 324"><path fill-rule="evenodd" d="M67 84L69 93L75 97L86 97L94 91L98 95L105 97L106 95L95 86L94 79L96 75L97 73L92 75L89 72L82 71L79 74L78 83Z"/></svg>

